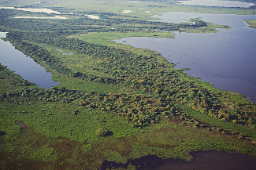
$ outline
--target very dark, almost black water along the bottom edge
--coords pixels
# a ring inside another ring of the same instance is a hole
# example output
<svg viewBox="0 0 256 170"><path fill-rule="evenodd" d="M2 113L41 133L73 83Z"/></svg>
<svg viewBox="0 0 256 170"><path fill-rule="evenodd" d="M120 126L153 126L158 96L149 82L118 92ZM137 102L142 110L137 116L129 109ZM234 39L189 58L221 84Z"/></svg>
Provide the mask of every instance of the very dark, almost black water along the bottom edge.
<svg viewBox="0 0 256 170"><path fill-rule="evenodd" d="M147 155L135 160L128 160L126 164L104 161L102 170L107 168L127 168L128 165L138 170L249 170L255 169L256 159L242 154L230 154L215 150L192 152L193 160L190 162L180 159L161 159Z"/></svg>

